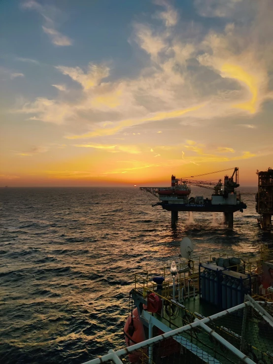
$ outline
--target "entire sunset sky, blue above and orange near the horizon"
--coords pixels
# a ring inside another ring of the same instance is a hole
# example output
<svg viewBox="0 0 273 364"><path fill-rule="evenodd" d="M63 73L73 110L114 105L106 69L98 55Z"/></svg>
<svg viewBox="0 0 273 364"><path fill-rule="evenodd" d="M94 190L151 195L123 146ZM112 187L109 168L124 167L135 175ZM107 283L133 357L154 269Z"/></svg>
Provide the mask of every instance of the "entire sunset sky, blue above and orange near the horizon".
<svg viewBox="0 0 273 364"><path fill-rule="evenodd" d="M0 1L0 186L235 166L256 185L273 167L272 19L272 0Z"/></svg>

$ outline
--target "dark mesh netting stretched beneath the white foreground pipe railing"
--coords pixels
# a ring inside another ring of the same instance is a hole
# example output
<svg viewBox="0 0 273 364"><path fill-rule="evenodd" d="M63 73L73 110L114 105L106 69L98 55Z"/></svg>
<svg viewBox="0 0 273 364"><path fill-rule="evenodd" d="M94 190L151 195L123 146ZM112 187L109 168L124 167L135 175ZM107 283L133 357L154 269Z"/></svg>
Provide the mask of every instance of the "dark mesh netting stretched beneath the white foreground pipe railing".
<svg viewBox="0 0 273 364"><path fill-rule="evenodd" d="M209 321L206 326L210 332L202 327L189 329L152 346L143 346L121 360L136 364L243 363L233 350L213 337L216 332L254 363L273 364L273 328L252 307Z"/></svg>

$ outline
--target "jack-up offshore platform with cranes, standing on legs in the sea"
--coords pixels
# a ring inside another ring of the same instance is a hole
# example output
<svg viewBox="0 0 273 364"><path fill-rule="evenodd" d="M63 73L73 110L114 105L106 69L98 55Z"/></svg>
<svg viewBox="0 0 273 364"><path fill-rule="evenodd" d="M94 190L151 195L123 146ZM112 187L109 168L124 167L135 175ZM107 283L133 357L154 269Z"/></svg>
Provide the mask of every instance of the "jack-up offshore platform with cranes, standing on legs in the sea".
<svg viewBox="0 0 273 364"><path fill-rule="evenodd" d="M225 175L224 182L219 179L216 184L211 181L188 179L230 169L234 169L232 176ZM239 187L239 168L223 169L211 173L182 178L175 178L172 175L171 187L140 187L140 190L147 191L160 200L153 206L160 205L163 209L171 211L172 226L175 226L178 220L178 211L198 211L223 212L225 222L228 223L229 228L233 228L234 212L242 212L246 208L246 204L240 200L240 194L236 192L236 188ZM211 199L204 198L203 196L189 197L191 193L190 185L213 190Z"/></svg>

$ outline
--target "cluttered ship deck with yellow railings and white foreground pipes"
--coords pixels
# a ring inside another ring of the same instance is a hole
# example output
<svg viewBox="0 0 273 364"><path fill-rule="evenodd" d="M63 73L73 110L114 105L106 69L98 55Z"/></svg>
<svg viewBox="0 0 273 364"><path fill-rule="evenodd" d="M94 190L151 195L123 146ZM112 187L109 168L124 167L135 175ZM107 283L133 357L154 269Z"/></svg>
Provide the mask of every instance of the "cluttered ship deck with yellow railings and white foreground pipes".
<svg viewBox="0 0 273 364"><path fill-rule="evenodd" d="M218 258L227 257L232 255L218 254ZM254 291L255 277L262 273L263 262L272 260L273 250L263 245L255 257L240 257L244 260L243 272L238 265L237 271L222 268L221 274L231 279L241 276L251 285L252 297L245 294L244 302L225 310L200 299L200 271L214 271L211 255L192 258L190 266L189 262L186 266L181 263L175 286L170 268L136 274L130 307L133 312L136 306L146 339L136 344L131 341L124 349L109 350L107 355L86 364L272 364L273 293L261 297ZM162 287L153 281L159 275L165 278ZM181 295L182 289L185 296ZM157 296L155 301L162 304L149 305L150 296ZM130 338L129 331L125 335Z"/></svg>

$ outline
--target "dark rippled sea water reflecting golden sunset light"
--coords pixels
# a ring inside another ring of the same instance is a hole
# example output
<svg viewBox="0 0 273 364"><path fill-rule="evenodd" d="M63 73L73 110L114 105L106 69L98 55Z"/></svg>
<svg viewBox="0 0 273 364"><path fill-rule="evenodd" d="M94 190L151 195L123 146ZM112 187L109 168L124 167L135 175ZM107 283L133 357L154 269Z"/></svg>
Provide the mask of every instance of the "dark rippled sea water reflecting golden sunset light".
<svg viewBox="0 0 273 364"><path fill-rule="evenodd" d="M187 212L172 229L170 212L138 188L1 189L1 363L79 364L123 347L134 273L177 260L183 236L196 254L254 254L273 241L254 196L242 199L233 230L220 213Z"/></svg>

